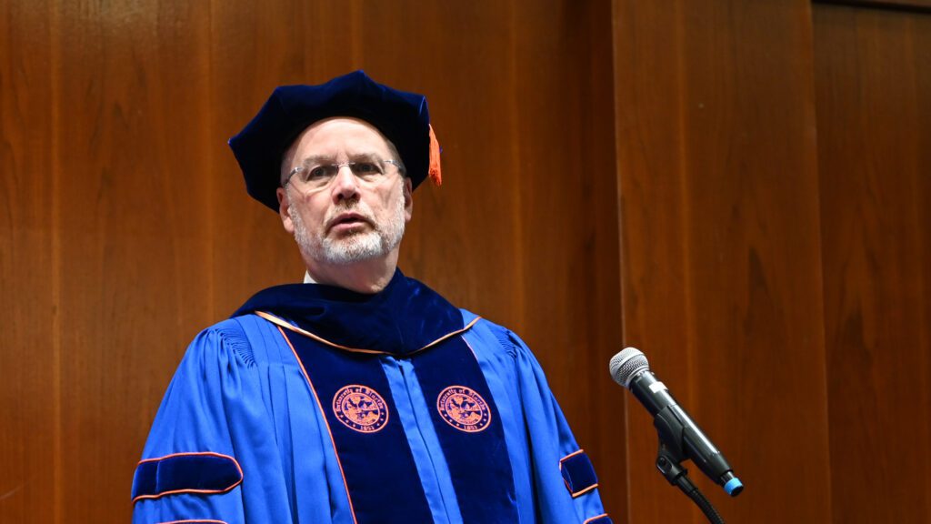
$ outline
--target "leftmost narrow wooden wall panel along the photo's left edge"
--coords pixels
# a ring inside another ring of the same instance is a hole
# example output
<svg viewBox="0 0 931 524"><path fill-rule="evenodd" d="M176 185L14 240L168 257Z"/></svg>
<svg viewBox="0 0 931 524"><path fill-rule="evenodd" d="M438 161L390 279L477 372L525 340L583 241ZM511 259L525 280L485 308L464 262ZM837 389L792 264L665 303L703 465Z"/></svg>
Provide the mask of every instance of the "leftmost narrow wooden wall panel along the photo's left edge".
<svg viewBox="0 0 931 524"><path fill-rule="evenodd" d="M48 13L46 2L0 5L0 522L61 516Z"/></svg>

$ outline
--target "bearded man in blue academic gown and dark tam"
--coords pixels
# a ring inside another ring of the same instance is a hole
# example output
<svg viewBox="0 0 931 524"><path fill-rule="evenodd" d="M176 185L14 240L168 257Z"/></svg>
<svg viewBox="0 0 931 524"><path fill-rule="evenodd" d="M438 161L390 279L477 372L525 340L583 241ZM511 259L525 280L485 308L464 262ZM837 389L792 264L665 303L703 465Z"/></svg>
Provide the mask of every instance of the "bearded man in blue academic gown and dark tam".
<svg viewBox="0 0 931 524"><path fill-rule="evenodd" d="M530 350L397 269L440 179L423 96L360 71L278 88L230 145L307 276L188 348L135 522L611 522Z"/></svg>

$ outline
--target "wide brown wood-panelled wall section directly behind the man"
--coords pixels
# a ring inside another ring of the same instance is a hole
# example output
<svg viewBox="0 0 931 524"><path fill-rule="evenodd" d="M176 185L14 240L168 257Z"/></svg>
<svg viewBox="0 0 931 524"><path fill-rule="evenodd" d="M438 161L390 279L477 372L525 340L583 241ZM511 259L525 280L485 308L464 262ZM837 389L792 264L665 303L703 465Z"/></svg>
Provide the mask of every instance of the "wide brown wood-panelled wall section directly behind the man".
<svg viewBox="0 0 931 524"><path fill-rule="evenodd" d="M0 520L127 521L188 341L303 273L226 139L275 86L356 68L427 93L444 147L402 268L527 339L609 509L625 507L605 371L620 338L606 0L34 6L0 11L0 299L17 350L0 354Z"/></svg>

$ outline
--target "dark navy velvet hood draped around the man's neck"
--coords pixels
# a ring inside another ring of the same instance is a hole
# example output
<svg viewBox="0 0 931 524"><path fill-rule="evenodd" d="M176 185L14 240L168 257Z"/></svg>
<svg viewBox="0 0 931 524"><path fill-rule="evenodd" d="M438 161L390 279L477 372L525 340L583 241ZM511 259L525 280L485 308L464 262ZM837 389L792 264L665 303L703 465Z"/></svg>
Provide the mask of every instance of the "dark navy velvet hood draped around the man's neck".
<svg viewBox="0 0 931 524"><path fill-rule="evenodd" d="M463 316L425 284L395 270L385 289L363 294L319 283L263 289L233 316L265 311L333 344L405 355L462 330Z"/></svg>

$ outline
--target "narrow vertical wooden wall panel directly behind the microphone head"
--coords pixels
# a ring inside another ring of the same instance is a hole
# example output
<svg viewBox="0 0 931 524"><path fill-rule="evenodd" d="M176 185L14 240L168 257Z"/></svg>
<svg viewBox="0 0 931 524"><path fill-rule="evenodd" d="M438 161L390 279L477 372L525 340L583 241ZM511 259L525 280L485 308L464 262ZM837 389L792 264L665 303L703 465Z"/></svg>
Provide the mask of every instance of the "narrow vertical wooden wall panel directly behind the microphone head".
<svg viewBox="0 0 931 524"><path fill-rule="evenodd" d="M613 16L624 342L639 347L683 395L688 375L675 365L689 339L681 205L684 72L677 57L681 5L614 2ZM625 394L627 522L685 522L691 509L668 503L675 494L657 477L652 421Z"/></svg>

